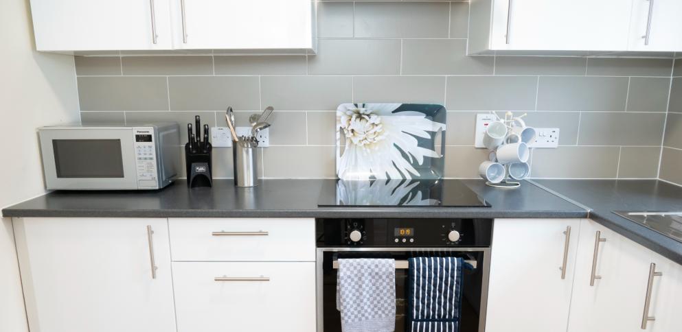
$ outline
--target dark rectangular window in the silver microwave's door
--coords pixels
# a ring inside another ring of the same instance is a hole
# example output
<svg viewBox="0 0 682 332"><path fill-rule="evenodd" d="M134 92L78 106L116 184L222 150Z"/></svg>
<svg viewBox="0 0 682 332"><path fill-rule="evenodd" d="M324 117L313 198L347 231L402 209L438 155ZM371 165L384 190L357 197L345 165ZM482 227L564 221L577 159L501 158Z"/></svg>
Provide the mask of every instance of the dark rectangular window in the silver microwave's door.
<svg viewBox="0 0 682 332"><path fill-rule="evenodd" d="M123 178L120 139L54 139L58 178Z"/></svg>

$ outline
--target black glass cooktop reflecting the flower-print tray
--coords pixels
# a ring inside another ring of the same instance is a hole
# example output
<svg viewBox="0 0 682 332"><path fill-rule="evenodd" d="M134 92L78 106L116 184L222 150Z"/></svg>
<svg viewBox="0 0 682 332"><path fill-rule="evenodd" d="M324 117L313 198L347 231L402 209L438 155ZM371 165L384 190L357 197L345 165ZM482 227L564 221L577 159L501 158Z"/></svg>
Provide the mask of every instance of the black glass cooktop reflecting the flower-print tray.
<svg viewBox="0 0 682 332"><path fill-rule="evenodd" d="M459 180L329 180L317 206L490 207Z"/></svg>

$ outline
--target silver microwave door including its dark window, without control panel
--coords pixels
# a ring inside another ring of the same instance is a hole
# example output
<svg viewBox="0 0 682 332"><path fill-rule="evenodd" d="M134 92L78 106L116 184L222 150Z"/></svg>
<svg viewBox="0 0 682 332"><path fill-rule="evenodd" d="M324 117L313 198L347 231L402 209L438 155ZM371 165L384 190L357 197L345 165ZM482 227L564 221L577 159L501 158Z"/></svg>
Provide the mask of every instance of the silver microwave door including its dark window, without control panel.
<svg viewBox="0 0 682 332"><path fill-rule="evenodd" d="M130 128L41 129L47 189L137 189Z"/></svg>

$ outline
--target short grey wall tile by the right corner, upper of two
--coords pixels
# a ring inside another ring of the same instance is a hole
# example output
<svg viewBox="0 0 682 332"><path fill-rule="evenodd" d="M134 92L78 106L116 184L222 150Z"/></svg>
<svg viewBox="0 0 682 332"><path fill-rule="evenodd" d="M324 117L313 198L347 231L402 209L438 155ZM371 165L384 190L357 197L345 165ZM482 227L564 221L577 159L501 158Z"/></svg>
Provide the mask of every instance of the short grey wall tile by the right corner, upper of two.
<svg viewBox="0 0 682 332"><path fill-rule="evenodd" d="M666 112L670 78L630 78L628 112Z"/></svg>

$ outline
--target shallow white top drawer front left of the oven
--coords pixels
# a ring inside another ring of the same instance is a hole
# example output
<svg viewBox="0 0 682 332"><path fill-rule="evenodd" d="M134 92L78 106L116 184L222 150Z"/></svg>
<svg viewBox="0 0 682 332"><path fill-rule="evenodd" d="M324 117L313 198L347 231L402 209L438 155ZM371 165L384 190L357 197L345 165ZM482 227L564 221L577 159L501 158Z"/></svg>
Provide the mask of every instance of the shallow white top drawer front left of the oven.
<svg viewBox="0 0 682 332"><path fill-rule="evenodd" d="M170 219L173 261L315 261L313 219Z"/></svg>

